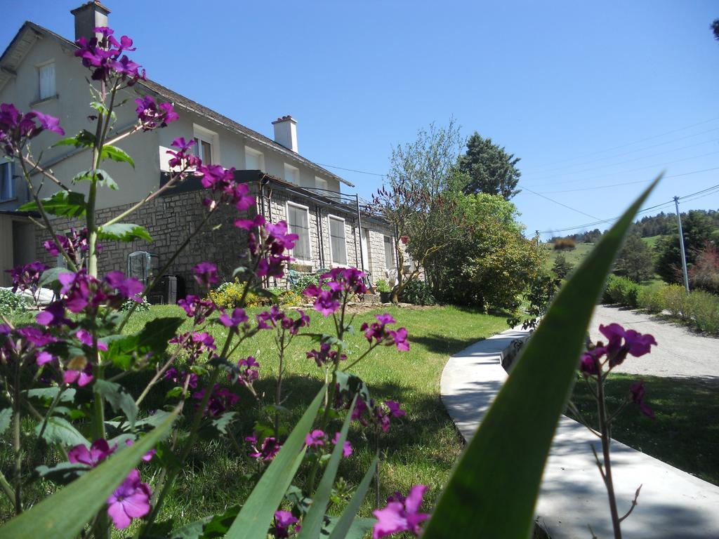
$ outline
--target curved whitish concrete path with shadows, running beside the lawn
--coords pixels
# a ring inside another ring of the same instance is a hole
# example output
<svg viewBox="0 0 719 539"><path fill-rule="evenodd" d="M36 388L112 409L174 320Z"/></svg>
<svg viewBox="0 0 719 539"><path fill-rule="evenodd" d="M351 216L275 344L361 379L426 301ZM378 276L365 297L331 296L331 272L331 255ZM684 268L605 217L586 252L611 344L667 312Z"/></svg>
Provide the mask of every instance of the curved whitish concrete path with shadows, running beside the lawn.
<svg viewBox="0 0 719 539"><path fill-rule="evenodd" d="M501 367L505 349L523 334L509 330L480 341L449 358L444 367L441 398L466 441L472 438L507 377ZM538 521L552 539L590 539L587 525L599 539L613 537L607 494L590 443L601 453L595 436L579 423L562 417L536 508ZM615 441L612 453L616 497L622 514L630 507L636 487L644 484L637 507L623 522L625 538L719 538L719 487L623 443Z"/></svg>

